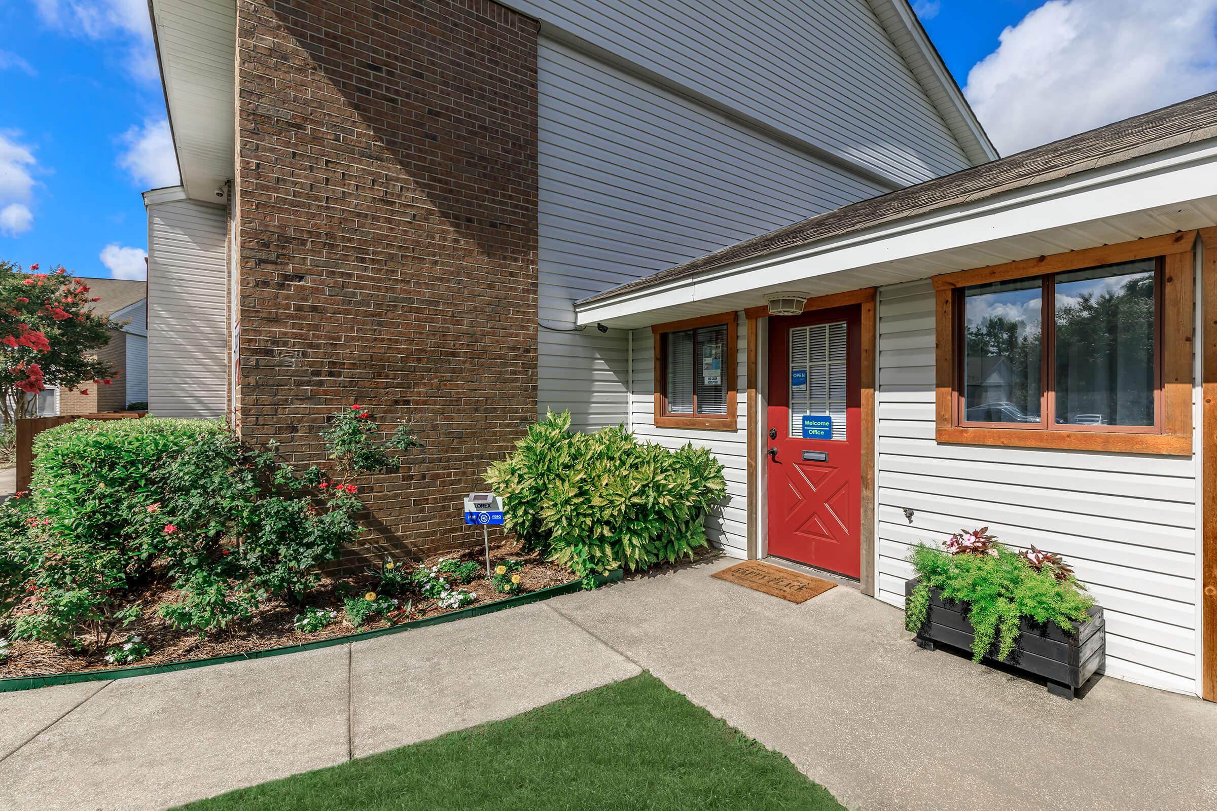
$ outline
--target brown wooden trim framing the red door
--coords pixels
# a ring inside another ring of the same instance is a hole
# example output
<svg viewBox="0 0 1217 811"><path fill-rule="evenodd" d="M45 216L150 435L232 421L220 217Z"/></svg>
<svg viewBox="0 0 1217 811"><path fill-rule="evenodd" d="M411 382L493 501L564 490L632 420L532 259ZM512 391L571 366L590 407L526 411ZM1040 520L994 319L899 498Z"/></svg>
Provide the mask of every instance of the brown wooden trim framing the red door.
<svg viewBox="0 0 1217 811"><path fill-rule="evenodd" d="M803 312L814 310L828 310L835 306L851 304L859 305L862 310L862 374L859 387L862 389L862 429L860 454L862 454L862 497L858 509L862 513L859 531L860 554L860 588L862 593L874 597L876 593L875 576L875 437L877 428L877 413L875 411L875 367L877 353L877 319L876 319L876 294L879 288L865 287L846 293L834 293L808 299L803 306ZM764 306L748 308L744 311L747 317L747 477L748 477L748 557L759 554L761 537L763 531L759 517L761 500L761 475L757 466L758 441L762 432L762 419L759 413L759 398L757 396L757 322L759 319L769 317L769 311ZM773 381L770 381L770 384Z"/></svg>

